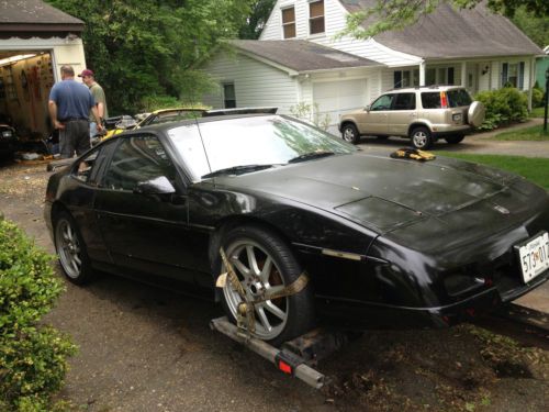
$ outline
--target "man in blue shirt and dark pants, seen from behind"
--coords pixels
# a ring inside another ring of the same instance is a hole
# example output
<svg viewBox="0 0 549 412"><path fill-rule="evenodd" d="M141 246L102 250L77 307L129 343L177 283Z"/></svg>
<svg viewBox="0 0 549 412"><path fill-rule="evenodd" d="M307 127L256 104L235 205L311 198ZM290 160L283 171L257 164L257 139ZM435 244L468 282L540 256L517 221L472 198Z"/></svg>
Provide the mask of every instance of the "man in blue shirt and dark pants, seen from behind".
<svg viewBox="0 0 549 412"><path fill-rule="evenodd" d="M88 115L90 110L102 130L98 108L88 87L75 80L75 69L61 66L61 81L49 92L49 115L59 130L59 151L63 158L77 156L90 148Z"/></svg>

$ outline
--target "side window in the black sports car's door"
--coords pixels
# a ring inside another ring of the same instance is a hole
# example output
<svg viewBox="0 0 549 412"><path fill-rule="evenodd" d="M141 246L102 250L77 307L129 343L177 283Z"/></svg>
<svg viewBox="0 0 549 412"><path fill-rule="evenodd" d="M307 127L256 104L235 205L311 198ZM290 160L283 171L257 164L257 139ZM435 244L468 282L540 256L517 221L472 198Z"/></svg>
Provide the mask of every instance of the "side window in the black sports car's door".
<svg viewBox="0 0 549 412"><path fill-rule="evenodd" d="M165 176L173 185L177 170L156 136L122 138L103 177L102 187L134 190L137 183Z"/></svg>

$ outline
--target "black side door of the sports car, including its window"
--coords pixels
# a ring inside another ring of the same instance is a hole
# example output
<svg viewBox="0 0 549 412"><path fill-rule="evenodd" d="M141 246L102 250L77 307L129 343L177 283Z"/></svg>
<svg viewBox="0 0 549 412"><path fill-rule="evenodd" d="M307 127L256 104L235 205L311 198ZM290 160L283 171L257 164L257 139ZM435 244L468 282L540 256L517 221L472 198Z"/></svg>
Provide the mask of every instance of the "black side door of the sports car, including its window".
<svg viewBox="0 0 549 412"><path fill-rule="evenodd" d="M166 177L175 192L142 194L137 185ZM187 190L158 136L120 138L96 196L99 226L113 261L131 275L192 281Z"/></svg>

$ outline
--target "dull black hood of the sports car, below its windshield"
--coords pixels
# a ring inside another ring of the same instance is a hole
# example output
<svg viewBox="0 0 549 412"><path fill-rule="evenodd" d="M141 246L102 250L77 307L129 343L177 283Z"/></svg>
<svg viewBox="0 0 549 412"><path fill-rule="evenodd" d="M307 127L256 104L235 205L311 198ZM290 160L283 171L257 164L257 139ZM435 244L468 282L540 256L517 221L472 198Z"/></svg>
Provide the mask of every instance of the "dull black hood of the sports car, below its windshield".
<svg viewBox="0 0 549 412"><path fill-rule="evenodd" d="M515 175L450 158L419 163L354 154L222 177L216 183L291 199L385 233L490 202L517 180L533 186ZM517 204L527 205L518 197ZM494 208L492 212L502 213Z"/></svg>

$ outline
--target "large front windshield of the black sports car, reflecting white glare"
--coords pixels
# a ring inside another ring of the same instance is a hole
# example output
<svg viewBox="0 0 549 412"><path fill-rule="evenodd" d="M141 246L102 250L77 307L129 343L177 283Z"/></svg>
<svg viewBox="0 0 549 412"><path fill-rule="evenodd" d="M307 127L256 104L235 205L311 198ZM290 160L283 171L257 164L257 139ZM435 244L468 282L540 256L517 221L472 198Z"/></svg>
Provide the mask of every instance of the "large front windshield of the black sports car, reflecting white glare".
<svg viewBox="0 0 549 412"><path fill-rule="evenodd" d="M200 131L195 123L180 125L169 130L168 136L193 181L215 176L217 170L255 171L265 169L260 166L288 165L295 159L310 162L326 154L357 151L320 129L280 115L201 122Z"/></svg>

